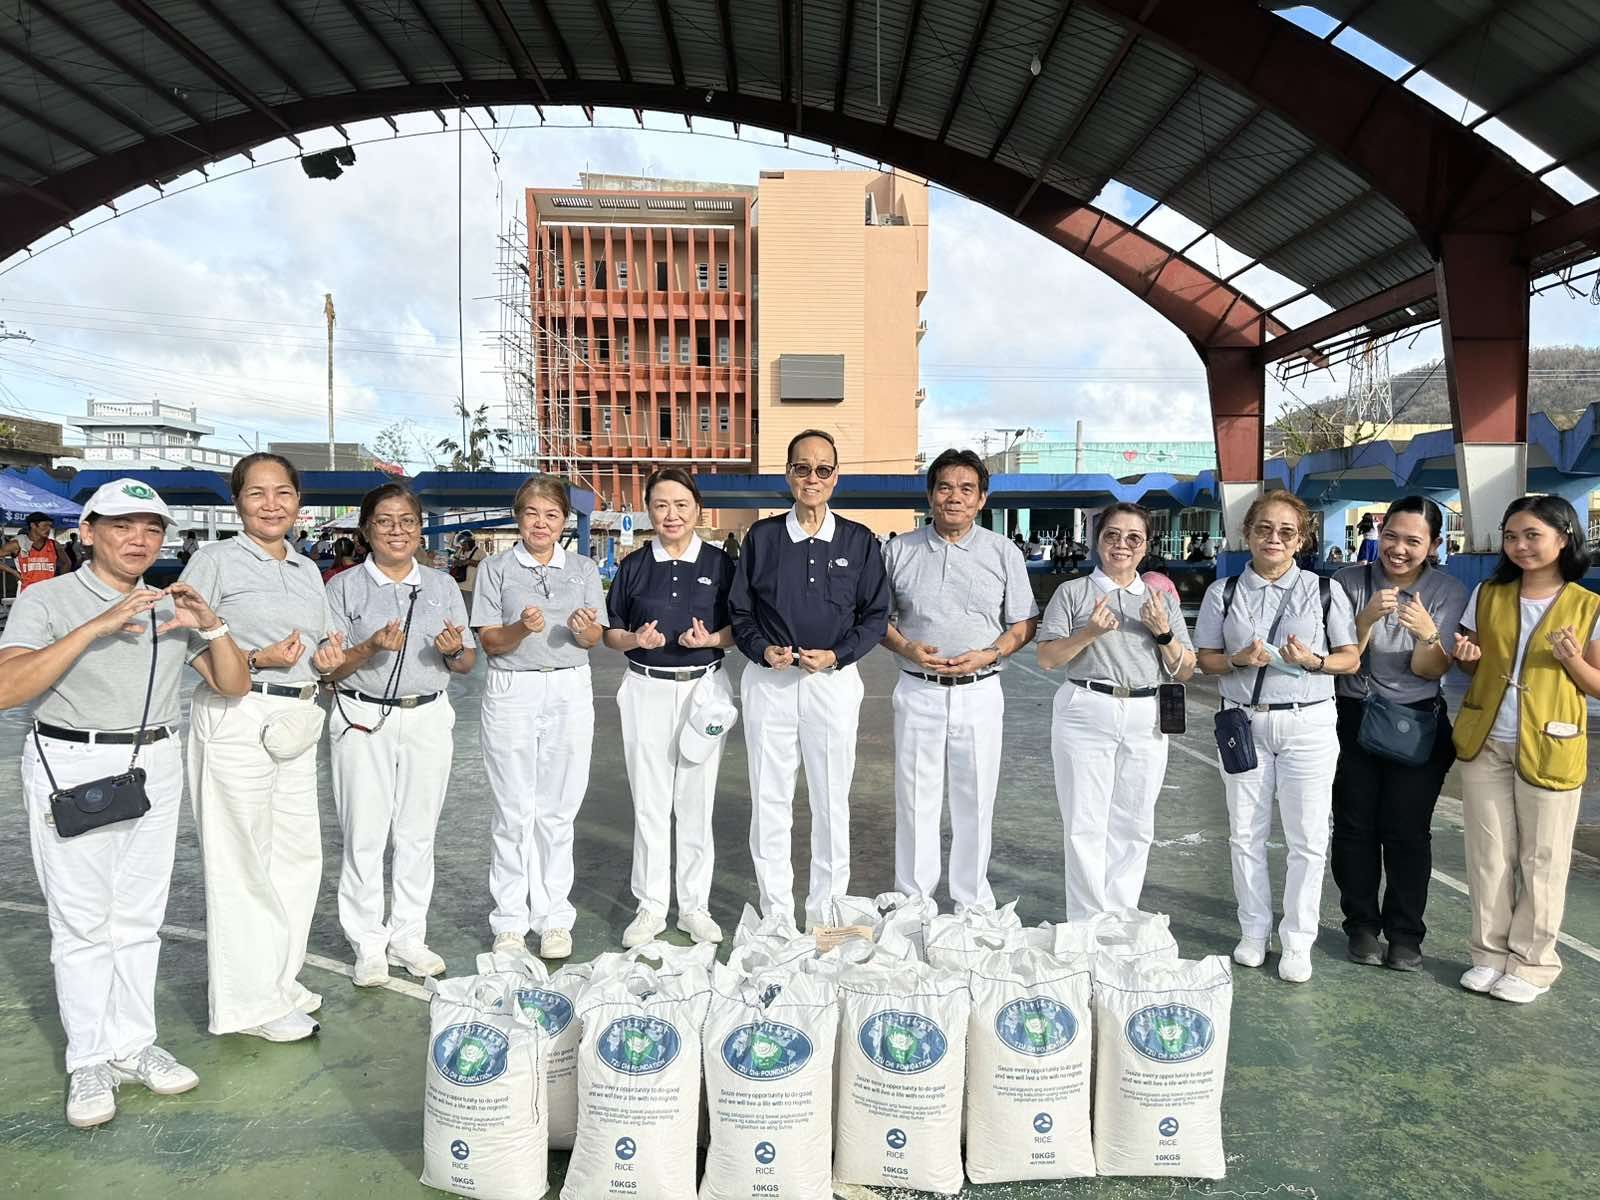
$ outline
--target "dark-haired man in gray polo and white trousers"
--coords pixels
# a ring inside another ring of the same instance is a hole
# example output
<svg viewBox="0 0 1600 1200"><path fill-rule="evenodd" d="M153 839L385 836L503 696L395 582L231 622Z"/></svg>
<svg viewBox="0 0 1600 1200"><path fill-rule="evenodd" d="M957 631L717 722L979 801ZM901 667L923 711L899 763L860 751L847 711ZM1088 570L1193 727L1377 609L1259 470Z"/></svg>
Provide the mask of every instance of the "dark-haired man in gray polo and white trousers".
<svg viewBox="0 0 1600 1200"><path fill-rule="evenodd" d="M950 789L950 899L994 907L989 846L1005 694L1000 669L1034 638L1038 603L1016 544L976 523L989 470L971 450L928 467L930 523L885 550L893 608L882 645L894 686L894 888L939 883L939 816Z"/></svg>

